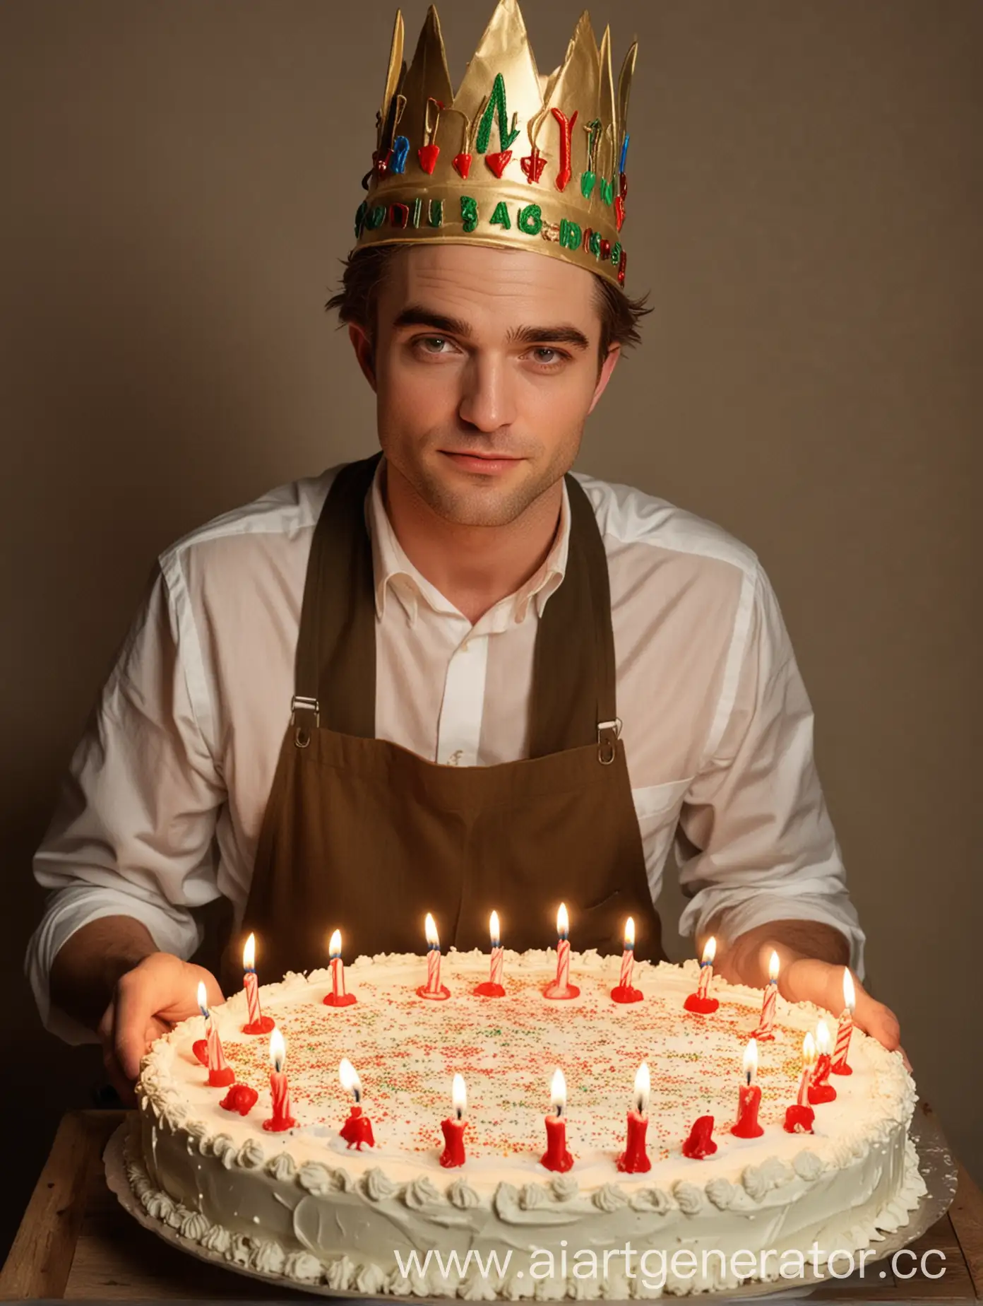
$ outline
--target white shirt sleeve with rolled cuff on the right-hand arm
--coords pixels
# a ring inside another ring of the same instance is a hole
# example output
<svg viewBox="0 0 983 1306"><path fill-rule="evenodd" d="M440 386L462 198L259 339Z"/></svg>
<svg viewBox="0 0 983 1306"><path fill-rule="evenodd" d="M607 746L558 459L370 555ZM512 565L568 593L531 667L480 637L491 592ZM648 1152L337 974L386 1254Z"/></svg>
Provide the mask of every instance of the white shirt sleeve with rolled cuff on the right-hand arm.
<svg viewBox="0 0 983 1306"><path fill-rule="evenodd" d="M731 939L769 921L821 921L849 940L863 977L864 934L816 773L812 707L768 577L758 567L744 584L721 737L680 812L676 859L691 901L679 930L698 934L718 914Z"/></svg>

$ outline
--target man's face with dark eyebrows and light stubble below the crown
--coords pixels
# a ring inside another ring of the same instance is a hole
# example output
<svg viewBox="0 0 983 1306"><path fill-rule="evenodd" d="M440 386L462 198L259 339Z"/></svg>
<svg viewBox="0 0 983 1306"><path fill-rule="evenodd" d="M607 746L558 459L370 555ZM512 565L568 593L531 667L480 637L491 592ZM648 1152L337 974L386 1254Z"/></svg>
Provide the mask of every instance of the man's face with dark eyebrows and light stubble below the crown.
<svg viewBox="0 0 983 1306"><path fill-rule="evenodd" d="M351 329L388 462L440 517L514 521L573 464L617 359L598 374L591 273L525 251L401 251L375 342Z"/></svg>

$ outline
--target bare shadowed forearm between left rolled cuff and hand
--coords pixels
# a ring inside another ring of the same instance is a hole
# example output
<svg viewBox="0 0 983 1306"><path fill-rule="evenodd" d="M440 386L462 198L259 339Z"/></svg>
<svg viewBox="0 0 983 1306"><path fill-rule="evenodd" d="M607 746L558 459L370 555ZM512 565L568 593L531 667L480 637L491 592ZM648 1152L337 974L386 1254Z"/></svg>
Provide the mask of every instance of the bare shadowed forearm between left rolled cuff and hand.
<svg viewBox="0 0 983 1306"><path fill-rule="evenodd" d="M76 930L51 965L51 1002L87 1029L95 1029L116 981L157 952L150 931L132 916L104 916Z"/></svg>

